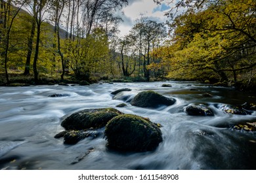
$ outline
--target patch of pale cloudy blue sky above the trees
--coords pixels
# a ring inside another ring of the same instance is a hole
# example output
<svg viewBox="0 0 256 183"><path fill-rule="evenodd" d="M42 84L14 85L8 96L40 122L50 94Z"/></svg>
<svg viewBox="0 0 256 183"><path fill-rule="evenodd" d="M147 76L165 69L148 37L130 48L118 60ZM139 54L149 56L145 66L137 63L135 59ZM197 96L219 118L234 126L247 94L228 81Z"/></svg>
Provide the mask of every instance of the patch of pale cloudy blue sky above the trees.
<svg viewBox="0 0 256 183"><path fill-rule="evenodd" d="M119 25L120 35L127 35L135 21L140 18L140 15L148 17L156 22L166 22L167 17L165 12L171 7L165 5L157 5L153 0L128 0L129 5L123 8L123 22Z"/></svg>

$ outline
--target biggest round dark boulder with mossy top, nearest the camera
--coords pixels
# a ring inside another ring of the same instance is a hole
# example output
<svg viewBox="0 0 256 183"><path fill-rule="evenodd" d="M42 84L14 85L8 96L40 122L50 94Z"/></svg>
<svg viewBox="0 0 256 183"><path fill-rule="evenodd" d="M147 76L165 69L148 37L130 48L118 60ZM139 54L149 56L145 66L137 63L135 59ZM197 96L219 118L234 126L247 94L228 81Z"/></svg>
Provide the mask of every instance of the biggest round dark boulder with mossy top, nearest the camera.
<svg viewBox="0 0 256 183"><path fill-rule="evenodd" d="M106 125L105 136L108 147L134 152L154 150L163 141L158 125L133 114L112 118Z"/></svg>

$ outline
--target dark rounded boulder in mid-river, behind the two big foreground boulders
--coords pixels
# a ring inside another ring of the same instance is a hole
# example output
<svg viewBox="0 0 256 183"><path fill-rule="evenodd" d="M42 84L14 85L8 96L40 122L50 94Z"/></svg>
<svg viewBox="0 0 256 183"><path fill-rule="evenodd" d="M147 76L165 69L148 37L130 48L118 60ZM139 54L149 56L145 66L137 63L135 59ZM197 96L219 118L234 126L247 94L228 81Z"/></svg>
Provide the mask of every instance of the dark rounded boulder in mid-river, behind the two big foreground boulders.
<svg viewBox="0 0 256 183"><path fill-rule="evenodd" d="M161 105L173 105L175 99L168 98L152 90L140 92L131 101L131 105L137 107L160 107Z"/></svg>

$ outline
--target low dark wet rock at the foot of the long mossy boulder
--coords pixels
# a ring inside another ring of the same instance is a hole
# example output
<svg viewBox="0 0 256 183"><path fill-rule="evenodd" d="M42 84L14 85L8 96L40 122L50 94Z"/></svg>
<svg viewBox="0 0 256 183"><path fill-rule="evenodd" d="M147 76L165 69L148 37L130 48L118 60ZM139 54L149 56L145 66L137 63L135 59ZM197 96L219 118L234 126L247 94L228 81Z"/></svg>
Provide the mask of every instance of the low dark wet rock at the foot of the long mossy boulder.
<svg viewBox="0 0 256 183"><path fill-rule="evenodd" d="M98 135L99 133L97 131L69 130L56 134L54 138L59 139L64 137L64 144L76 144L87 137L95 138Z"/></svg>

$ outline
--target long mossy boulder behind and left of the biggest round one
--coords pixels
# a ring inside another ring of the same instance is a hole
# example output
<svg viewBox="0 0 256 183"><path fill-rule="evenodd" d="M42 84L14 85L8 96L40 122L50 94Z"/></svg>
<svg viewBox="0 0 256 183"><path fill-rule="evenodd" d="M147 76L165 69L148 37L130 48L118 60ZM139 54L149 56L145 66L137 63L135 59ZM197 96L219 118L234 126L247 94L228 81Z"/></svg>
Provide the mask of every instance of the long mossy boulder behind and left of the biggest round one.
<svg viewBox="0 0 256 183"><path fill-rule="evenodd" d="M62 123L62 127L68 129L89 129L104 127L109 120L123 114L115 108L85 109L68 116Z"/></svg>

